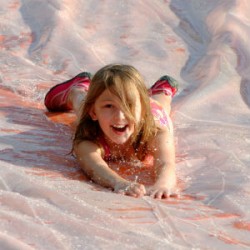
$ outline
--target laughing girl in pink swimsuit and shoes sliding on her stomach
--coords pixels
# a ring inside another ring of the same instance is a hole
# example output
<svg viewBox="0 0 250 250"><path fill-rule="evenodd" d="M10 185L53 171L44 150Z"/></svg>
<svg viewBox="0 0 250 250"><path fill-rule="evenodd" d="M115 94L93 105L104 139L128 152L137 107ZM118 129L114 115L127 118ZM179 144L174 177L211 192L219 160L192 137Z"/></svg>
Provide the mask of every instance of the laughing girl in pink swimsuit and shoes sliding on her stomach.
<svg viewBox="0 0 250 250"><path fill-rule="evenodd" d="M175 149L169 117L177 82L163 76L149 90L130 65L112 64L92 79L83 72L47 93L49 111L73 109L78 116L73 149L84 172L117 193L167 198L176 194ZM109 165L153 156L156 181L151 187L130 182Z"/></svg>

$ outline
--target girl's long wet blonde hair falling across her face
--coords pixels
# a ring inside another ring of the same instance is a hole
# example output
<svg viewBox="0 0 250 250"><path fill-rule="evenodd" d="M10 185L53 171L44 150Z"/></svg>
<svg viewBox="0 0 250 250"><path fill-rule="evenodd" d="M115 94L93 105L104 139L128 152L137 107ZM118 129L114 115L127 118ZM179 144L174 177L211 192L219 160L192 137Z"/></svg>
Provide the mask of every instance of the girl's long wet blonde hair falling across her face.
<svg viewBox="0 0 250 250"><path fill-rule="evenodd" d="M132 145L137 157L142 160L148 153L149 142L156 134L156 125L150 108L150 99L147 88L141 74L130 65L110 64L93 76L91 84L84 100L81 115L76 127L73 139L73 148L83 140L94 141L98 144L98 138L102 136L102 130L97 121L93 121L89 115L91 107L96 99L108 89L121 101L127 119L135 121L135 97L133 88L136 88L142 107L139 123L135 123L135 132L131 137Z"/></svg>

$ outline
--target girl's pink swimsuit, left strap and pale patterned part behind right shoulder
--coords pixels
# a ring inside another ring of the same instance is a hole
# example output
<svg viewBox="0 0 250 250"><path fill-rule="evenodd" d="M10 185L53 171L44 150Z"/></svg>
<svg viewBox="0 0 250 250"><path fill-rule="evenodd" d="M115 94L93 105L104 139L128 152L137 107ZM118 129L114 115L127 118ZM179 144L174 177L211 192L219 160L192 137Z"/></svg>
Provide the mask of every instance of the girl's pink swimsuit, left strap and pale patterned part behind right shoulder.
<svg viewBox="0 0 250 250"><path fill-rule="evenodd" d="M150 98L151 112L154 116L154 120L159 122L162 126L169 127L168 115L166 114L163 107L155 100ZM110 148L105 141L104 137L99 138L99 143L104 150L104 160L108 161L111 158Z"/></svg>

